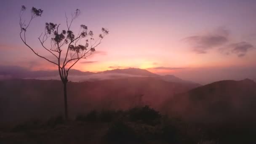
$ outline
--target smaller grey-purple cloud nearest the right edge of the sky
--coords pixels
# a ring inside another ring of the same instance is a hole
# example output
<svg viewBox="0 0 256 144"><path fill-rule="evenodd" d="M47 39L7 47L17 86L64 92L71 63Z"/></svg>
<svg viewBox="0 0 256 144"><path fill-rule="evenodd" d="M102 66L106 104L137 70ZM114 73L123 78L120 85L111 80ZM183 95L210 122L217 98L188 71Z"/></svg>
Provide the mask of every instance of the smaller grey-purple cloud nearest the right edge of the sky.
<svg viewBox="0 0 256 144"><path fill-rule="evenodd" d="M230 53L236 54L238 57L243 57L250 50L253 50L255 47L248 42L232 43L226 47L219 48L221 53L229 55Z"/></svg>

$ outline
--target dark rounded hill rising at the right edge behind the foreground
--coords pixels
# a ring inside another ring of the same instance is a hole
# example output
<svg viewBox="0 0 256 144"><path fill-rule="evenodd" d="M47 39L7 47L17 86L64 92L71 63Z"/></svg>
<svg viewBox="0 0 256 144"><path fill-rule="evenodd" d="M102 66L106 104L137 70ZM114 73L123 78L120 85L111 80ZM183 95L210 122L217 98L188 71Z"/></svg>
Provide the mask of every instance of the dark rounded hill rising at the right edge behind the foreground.
<svg viewBox="0 0 256 144"><path fill-rule="evenodd" d="M205 123L256 120L256 83L249 79L211 83L175 95L163 109Z"/></svg>

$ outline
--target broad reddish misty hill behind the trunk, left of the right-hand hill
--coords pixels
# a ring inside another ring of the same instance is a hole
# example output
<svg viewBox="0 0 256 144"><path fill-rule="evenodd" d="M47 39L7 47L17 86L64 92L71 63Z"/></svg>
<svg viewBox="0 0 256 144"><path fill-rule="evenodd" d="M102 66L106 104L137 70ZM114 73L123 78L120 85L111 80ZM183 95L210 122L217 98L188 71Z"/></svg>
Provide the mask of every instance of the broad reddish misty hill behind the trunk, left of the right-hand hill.
<svg viewBox="0 0 256 144"><path fill-rule="evenodd" d="M0 80L0 121L50 117L63 112L63 87L59 80ZM160 107L174 93L195 88L155 77L129 77L69 82L70 115L92 109L127 109L148 104Z"/></svg>

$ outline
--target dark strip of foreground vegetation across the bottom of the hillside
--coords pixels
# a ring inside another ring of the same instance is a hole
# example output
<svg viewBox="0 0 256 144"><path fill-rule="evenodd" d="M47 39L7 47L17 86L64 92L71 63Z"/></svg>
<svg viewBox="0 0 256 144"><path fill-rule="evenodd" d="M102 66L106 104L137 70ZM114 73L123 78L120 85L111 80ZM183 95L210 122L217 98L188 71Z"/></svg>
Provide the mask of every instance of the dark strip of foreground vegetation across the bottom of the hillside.
<svg viewBox="0 0 256 144"><path fill-rule="evenodd" d="M86 133L91 139L81 139L80 143L93 144L98 141L97 143L109 144L251 144L256 132L253 128L256 128L255 125L188 123L177 117L161 115L155 109L144 106L126 111L93 110L77 115L76 121L69 123L65 123L61 116L51 117L45 122L31 120L16 125L9 131L17 133L16 136L26 132L25 136L17 139L23 142L30 141L31 136L37 136L36 141L45 141L54 135L53 139L57 140L51 141L65 144L67 141L59 139L60 137L78 139L83 138ZM2 140L8 143L10 138L3 137Z"/></svg>

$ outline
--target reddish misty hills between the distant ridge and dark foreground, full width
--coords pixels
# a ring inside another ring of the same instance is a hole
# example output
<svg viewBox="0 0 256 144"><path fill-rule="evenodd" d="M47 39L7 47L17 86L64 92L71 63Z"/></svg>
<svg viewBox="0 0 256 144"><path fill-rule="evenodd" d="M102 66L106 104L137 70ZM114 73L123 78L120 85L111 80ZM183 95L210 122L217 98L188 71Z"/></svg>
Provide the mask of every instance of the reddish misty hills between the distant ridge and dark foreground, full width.
<svg viewBox="0 0 256 144"><path fill-rule="evenodd" d="M0 91L0 112L5 117L2 121L49 117L63 110L63 91L58 80L0 80ZM256 118L256 83L249 79L223 80L198 88L157 77L69 82L68 95L73 116L92 109L127 109L148 104L163 113L204 123Z"/></svg>

